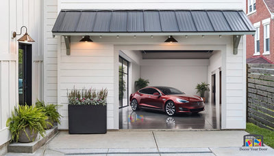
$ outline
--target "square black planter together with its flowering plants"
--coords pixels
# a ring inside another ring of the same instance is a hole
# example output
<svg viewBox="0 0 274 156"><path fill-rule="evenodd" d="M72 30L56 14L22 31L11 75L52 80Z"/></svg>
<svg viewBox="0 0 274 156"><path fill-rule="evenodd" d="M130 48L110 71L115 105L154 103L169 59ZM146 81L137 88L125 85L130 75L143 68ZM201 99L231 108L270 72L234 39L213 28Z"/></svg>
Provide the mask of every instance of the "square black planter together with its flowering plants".
<svg viewBox="0 0 274 156"><path fill-rule="evenodd" d="M69 99L69 134L105 134L107 132L107 89L73 88Z"/></svg>

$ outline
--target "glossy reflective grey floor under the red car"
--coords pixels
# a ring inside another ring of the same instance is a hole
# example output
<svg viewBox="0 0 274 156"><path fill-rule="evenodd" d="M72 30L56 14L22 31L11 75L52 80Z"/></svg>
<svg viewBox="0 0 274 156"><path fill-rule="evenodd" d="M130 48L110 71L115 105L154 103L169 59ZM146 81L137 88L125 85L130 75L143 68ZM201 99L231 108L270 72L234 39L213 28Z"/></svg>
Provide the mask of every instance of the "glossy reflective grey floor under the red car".
<svg viewBox="0 0 274 156"><path fill-rule="evenodd" d="M198 114L168 116L151 110L132 111L130 106L119 110L120 129L221 129L221 106L206 103Z"/></svg>

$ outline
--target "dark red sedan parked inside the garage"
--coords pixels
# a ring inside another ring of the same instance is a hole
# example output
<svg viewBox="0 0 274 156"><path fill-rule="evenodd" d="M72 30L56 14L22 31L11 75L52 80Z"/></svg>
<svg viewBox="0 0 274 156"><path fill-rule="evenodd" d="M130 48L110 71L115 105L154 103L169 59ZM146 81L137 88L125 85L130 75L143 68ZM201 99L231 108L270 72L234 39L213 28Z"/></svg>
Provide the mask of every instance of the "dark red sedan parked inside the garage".
<svg viewBox="0 0 274 156"><path fill-rule="evenodd" d="M132 110L140 108L160 110L173 116L179 112L201 112L205 110L203 99L197 95L186 95L172 87L145 87L130 95Z"/></svg>

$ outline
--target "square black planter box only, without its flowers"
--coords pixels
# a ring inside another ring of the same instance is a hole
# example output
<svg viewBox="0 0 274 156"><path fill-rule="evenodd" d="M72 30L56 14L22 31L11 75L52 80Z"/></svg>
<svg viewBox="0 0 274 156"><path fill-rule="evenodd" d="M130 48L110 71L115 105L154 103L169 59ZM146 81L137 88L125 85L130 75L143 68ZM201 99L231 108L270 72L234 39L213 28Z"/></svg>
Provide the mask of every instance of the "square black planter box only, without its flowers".
<svg viewBox="0 0 274 156"><path fill-rule="evenodd" d="M68 105L69 134L105 134L107 106Z"/></svg>

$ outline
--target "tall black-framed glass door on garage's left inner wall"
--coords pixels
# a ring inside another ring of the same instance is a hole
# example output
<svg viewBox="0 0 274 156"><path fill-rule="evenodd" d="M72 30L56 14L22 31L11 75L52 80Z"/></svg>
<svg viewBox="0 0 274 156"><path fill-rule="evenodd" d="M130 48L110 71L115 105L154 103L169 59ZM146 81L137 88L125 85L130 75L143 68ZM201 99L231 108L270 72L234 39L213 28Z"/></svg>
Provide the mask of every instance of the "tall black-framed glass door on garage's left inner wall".
<svg viewBox="0 0 274 156"><path fill-rule="evenodd" d="M128 66L129 62L119 57L119 108L128 106Z"/></svg>

